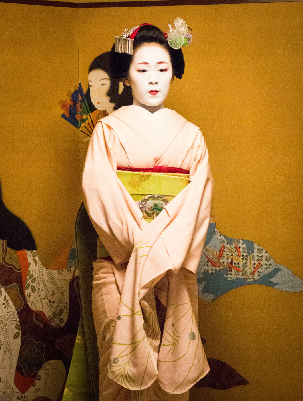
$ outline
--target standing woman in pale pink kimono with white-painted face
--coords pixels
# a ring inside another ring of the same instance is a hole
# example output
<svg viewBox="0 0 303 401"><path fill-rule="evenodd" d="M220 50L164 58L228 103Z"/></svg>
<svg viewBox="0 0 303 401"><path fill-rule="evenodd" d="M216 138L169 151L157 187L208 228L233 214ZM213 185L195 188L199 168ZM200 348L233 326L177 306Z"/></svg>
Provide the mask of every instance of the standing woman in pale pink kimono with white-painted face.
<svg viewBox="0 0 303 401"><path fill-rule="evenodd" d="M163 105L171 80L184 72L181 49L155 26L134 29L116 38L120 51L133 38L133 55L113 48L111 60L133 105L96 124L83 173L84 203L108 252L93 272L100 400L185 401L209 371L195 271L212 179L201 131Z"/></svg>

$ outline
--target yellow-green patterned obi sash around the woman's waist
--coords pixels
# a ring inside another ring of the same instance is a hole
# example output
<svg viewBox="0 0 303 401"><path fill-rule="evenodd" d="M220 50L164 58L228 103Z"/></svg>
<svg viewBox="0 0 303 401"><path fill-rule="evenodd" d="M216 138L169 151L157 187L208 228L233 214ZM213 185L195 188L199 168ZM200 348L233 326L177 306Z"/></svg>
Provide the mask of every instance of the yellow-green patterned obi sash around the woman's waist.
<svg viewBox="0 0 303 401"><path fill-rule="evenodd" d="M134 172L118 170L117 176L125 186L138 207L141 201L148 195L164 196L171 201L189 183L189 174L183 173L155 173ZM141 203L142 204L142 203ZM148 223L151 218L144 216ZM98 238L97 257L109 256L100 238Z"/></svg>

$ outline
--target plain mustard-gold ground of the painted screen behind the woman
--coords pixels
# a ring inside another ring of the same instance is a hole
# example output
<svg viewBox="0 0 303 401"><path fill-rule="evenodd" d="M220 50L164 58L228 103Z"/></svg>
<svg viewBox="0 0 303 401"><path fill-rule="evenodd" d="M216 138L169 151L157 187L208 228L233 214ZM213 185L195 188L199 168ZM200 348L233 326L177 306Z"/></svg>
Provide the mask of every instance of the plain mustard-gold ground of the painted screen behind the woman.
<svg viewBox="0 0 303 401"><path fill-rule="evenodd" d="M302 2L136 8L0 4L0 180L45 267L74 237L88 142L56 111L115 35L181 16L194 32L166 107L201 127L215 188L213 216L229 237L260 244L303 278ZM302 293L247 286L200 306L210 358L250 383L193 389L192 400L303 399Z"/></svg>

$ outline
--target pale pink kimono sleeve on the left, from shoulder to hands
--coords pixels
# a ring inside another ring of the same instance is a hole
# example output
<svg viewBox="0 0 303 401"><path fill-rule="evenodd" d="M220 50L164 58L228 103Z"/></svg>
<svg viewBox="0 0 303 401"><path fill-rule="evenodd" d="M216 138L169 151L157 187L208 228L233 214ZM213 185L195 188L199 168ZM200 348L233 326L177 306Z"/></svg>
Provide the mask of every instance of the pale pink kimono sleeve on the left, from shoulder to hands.
<svg viewBox="0 0 303 401"><path fill-rule="evenodd" d="M82 191L94 228L118 265L129 260L146 222L116 175L111 134L111 127L96 124L86 155Z"/></svg>

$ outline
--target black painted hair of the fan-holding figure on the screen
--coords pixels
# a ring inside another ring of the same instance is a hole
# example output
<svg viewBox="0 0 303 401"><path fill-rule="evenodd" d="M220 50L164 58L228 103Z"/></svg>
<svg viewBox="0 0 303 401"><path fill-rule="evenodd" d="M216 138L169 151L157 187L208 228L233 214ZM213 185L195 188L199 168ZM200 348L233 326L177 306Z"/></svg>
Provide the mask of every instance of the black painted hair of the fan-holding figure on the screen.
<svg viewBox="0 0 303 401"><path fill-rule="evenodd" d="M91 63L88 73L94 70L103 70L109 76L111 80L111 85L107 92L107 95L110 97L110 102L115 103L114 110L119 109L121 106L127 106L133 103L133 97L131 94L131 89L124 85L123 92L119 95L119 82L121 79L113 78L110 69L110 52L104 52L98 55ZM91 112L96 110L96 107L92 104L92 100L90 99L90 87L88 87L85 97L88 103L88 107Z"/></svg>

